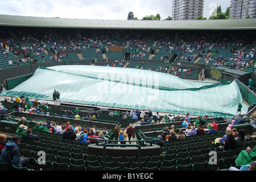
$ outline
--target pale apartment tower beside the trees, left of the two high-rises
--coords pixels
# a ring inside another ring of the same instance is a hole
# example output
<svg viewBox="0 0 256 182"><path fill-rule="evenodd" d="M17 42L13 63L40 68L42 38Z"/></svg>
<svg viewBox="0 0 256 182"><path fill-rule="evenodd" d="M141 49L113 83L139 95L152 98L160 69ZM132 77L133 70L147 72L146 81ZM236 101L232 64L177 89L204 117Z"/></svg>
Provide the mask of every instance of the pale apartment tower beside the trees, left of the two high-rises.
<svg viewBox="0 0 256 182"><path fill-rule="evenodd" d="M173 20L193 20L203 15L204 0L173 0Z"/></svg>

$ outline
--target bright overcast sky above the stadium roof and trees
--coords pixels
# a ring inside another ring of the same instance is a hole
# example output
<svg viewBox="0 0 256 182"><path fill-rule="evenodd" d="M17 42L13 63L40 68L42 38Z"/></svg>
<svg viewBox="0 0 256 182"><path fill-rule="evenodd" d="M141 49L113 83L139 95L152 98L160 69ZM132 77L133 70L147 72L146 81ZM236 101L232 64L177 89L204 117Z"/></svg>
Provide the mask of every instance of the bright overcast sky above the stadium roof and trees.
<svg viewBox="0 0 256 182"><path fill-rule="evenodd" d="M126 20L131 11L138 19L160 14L172 16L172 0L0 0L0 14L77 19ZM205 0L203 16L209 18L215 7L225 13L230 0Z"/></svg>

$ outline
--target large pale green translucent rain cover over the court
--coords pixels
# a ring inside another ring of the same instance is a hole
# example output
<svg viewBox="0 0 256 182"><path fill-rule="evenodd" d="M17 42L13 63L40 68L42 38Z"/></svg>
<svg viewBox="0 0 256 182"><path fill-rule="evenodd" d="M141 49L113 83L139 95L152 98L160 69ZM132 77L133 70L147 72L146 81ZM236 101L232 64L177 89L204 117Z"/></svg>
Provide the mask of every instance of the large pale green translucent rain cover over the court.
<svg viewBox="0 0 256 182"><path fill-rule="evenodd" d="M39 67L31 78L3 95L24 93L51 101L54 89L61 93L62 102L130 110L231 117L237 113L238 102L242 114L248 109L235 80L213 84L155 71L93 65Z"/></svg>

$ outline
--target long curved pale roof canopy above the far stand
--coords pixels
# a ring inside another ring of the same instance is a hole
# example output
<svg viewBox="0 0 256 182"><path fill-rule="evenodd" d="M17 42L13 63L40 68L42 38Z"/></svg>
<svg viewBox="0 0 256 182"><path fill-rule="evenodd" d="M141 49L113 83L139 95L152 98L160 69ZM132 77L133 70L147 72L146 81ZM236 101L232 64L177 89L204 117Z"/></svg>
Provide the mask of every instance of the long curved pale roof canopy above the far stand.
<svg viewBox="0 0 256 182"><path fill-rule="evenodd" d="M131 30L256 30L256 19L104 20L0 15L0 26Z"/></svg>

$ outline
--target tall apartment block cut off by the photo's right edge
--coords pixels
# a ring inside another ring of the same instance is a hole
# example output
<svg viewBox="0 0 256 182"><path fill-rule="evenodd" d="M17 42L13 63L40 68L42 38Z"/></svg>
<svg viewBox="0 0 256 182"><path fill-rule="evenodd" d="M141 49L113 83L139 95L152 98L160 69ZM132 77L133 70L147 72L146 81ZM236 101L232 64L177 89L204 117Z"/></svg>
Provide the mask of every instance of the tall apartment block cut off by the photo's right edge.
<svg viewBox="0 0 256 182"><path fill-rule="evenodd" d="M231 0L229 19L256 18L255 0Z"/></svg>

